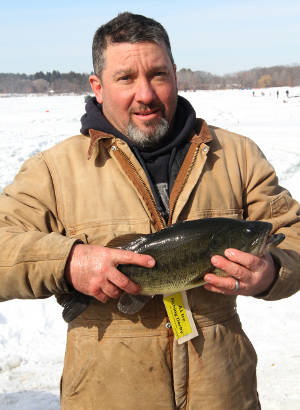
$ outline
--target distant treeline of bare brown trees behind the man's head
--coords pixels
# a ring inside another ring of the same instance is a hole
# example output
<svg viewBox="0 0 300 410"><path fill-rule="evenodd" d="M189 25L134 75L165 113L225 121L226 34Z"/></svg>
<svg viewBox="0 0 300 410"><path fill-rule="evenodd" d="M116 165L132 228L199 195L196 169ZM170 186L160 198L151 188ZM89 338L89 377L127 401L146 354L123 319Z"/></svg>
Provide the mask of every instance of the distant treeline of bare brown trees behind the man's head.
<svg viewBox="0 0 300 410"><path fill-rule="evenodd" d="M89 74L73 71L35 74L0 73L0 93L88 93ZM179 90L215 90L226 88L267 88L300 85L300 65L258 67L223 76L183 68L177 72Z"/></svg>

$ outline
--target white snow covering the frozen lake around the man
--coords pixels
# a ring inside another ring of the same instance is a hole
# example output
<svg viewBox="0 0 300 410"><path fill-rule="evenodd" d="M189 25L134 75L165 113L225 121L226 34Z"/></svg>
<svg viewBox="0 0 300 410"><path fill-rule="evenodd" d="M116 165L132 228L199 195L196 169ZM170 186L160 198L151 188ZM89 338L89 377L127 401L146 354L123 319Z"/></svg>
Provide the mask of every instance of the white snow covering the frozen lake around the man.
<svg viewBox="0 0 300 410"><path fill-rule="evenodd" d="M289 89L289 97L286 96ZM300 87L181 93L207 122L249 136L300 200ZM262 95L262 91L264 95ZM25 159L78 133L84 96L0 98L0 190ZM300 294L239 297L263 410L300 409ZM58 410L66 324L53 298L0 304L0 410Z"/></svg>

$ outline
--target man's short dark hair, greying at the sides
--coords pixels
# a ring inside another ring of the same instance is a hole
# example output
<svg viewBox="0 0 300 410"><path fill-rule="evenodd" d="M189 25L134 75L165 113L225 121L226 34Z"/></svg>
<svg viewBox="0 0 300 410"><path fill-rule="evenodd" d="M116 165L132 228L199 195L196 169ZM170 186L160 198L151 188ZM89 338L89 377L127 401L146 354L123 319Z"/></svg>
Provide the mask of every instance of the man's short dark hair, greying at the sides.
<svg viewBox="0 0 300 410"><path fill-rule="evenodd" d="M169 36L164 27L151 18L125 12L103 24L94 35L92 51L95 74L101 78L105 64L104 52L110 43L144 41L165 44L170 60L174 64Z"/></svg>

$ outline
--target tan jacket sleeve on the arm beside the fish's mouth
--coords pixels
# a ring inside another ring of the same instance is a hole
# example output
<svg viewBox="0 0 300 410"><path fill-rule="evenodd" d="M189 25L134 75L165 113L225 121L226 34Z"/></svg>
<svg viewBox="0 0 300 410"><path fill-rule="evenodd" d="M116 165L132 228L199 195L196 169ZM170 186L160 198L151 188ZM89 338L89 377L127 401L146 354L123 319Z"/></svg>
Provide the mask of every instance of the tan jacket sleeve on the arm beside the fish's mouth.
<svg viewBox="0 0 300 410"><path fill-rule="evenodd" d="M246 139L245 212L250 220L265 220L272 232L282 232L285 240L271 250L279 267L277 278L260 298L278 300L300 289L300 206L290 193L278 185L271 164L252 141Z"/></svg>

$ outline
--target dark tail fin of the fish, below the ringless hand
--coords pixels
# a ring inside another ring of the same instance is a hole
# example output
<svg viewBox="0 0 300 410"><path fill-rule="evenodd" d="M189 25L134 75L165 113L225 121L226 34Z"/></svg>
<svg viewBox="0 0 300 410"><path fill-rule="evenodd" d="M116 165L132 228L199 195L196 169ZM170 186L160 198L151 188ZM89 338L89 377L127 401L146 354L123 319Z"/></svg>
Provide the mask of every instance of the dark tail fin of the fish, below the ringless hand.
<svg viewBox="0 0 300 410"><path fill-rule="evenodd" d="M63 319L69 323L86 310L91 301L91 297L73 291L72 293L57 295L56 300L64 308L62 312Z"/></svg>

